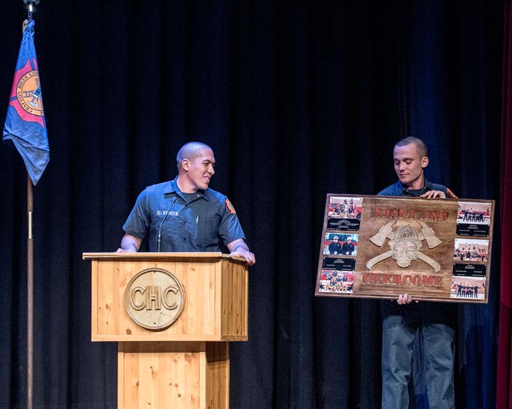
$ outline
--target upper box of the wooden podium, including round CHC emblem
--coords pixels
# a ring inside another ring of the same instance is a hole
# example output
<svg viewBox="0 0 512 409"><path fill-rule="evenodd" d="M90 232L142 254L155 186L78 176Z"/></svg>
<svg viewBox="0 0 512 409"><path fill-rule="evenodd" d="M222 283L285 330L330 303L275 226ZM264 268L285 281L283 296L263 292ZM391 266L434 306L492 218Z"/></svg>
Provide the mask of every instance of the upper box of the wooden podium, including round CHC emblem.
<svg viewBox="0 0 512 409"><path fill-rule="evenodd" d="M248 270L221 252L83 253L93 341L245 341Z"/></svg>

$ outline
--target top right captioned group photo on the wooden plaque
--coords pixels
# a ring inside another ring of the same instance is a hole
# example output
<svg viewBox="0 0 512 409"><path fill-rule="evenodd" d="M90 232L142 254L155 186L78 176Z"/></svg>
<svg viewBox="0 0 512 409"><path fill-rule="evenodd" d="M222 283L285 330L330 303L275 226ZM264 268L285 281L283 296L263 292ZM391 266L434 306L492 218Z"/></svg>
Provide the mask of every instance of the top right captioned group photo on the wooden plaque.
<svg viewBox="0 0 512 409"><path fill-rule="evenodd" d="M489 235L491 203L459 202L457 236Z"/></svg>

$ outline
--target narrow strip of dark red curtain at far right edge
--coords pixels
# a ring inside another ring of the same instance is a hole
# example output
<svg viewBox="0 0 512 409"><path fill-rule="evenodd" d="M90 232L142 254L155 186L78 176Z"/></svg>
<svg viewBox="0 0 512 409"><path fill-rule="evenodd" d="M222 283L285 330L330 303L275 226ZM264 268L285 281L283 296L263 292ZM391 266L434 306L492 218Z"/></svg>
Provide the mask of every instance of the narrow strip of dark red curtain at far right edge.
<svg viewBox="0 0 512 409"><path fill-rule="evenodd" d="M506 0L503 41L503 100L500 216L502 266L500 298L500 333L498 336L496 408L512 408L512 31L511 3Z"/></svg>

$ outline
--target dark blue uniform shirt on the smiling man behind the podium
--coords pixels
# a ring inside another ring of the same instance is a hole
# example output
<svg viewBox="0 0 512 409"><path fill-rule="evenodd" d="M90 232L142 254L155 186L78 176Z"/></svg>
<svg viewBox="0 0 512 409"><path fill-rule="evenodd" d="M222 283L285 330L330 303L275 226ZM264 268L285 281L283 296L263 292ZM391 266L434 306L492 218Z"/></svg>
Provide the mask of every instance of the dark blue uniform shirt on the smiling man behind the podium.
<svg viewBox="0 0 512 409"><path fill-rule="evenodd" d="M123 230L140 240L149 231L149 251L156 252L160 225L162 252L220 252L221 243L245 238L225 195L212 189L184 194L177 178L146 187Z"/></svg>

